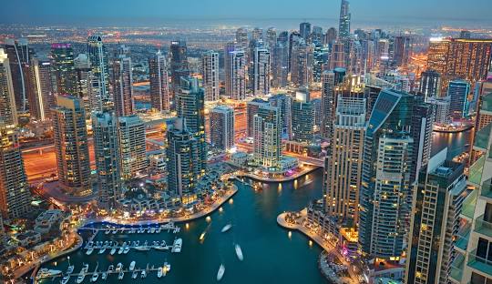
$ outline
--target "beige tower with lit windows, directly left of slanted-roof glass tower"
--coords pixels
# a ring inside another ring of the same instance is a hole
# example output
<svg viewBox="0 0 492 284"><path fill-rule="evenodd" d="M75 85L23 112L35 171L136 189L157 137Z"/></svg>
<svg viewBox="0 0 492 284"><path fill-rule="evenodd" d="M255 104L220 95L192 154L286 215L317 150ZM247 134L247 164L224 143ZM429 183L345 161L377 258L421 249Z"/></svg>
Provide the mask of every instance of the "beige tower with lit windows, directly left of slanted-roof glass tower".
<svg viewBox="0 0 492 284"><path fill-rule="evenodd" d="M354 228L359 221L366 99L338 96L332 150L324 159L325 211L335 223Z"/></svg>

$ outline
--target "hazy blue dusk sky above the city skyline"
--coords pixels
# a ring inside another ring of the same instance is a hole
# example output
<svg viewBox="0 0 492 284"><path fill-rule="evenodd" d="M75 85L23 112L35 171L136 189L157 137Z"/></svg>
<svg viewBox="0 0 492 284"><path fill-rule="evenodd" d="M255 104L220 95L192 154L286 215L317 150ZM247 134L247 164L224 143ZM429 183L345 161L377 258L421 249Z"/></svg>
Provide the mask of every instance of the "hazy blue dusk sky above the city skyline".
<svg viewBox="0 0 492 284"><path fill-rule="evenodd" d="M3 0L0 24L159 25L337 19L341 0ZM491 0L352 0L356 23L491 25Z"/></svg>

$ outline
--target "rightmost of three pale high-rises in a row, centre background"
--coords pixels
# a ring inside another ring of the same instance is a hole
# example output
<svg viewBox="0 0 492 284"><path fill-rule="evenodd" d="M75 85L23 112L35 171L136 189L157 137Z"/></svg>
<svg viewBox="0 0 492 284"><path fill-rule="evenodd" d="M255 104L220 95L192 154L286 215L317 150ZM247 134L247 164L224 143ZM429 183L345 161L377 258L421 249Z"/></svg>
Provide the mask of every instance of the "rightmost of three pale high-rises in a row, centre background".
<svg viewBox="0 0 492 284"><path fill-rule="evenodd" d="M270 94L270 51L256 47L253 56L253 95Z"/></svg>

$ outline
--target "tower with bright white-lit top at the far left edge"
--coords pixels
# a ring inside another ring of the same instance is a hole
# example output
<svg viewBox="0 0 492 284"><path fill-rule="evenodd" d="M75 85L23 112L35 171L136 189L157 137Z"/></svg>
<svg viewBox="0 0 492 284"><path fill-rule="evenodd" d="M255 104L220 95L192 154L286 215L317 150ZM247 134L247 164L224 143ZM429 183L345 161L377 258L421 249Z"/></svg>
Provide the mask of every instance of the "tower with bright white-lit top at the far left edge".
<svg viewBox="0 0 492 284"><path fill-rule="evenodd" d="M17 107L10 66L8 56L4 49L0 48L0 117L6 125L17 125Z"/></svg>

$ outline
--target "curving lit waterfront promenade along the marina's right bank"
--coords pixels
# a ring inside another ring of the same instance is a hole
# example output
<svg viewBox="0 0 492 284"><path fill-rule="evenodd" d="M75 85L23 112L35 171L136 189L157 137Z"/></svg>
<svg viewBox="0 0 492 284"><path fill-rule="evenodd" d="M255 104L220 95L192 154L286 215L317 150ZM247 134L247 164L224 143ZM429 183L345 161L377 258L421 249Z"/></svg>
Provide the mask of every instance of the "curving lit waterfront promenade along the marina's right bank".
<svg viewBox="0 0 492 284"><path fill-rule="evenodd" d="M322 247L328 254L332 254L335 258L339 259L340 262L342 262L343 266L345 266L347 268L349 275L350 275L350 282L349 282L350 284L359 283L359 281L357 279L357 274L354 271L353 265L350 262L348 262L345 258L343 258L342 254L340 254L340 252L336 248L334 248L332 244L330 244L328 241L326 241L324 238L322 238L318 234L314 233L311 229L302 226L302 222L307 218L307 209L306 208L302 209L302 211L300 212L300 214L302 216L301 218L299 218L300 223L296 222L295 224L292 224L292 223L287 222L285 220L285 217L287 216L287 214L288 214L288 212L284 212L277 217L277 223L281 227L289 228L292 230L298 230L298 231L302 232L302 234L304 234L308 238L313 239L313 241L315 241L320 247ZM346 282L346 280L343 281L343 283L345 283L345 282Z"/></svg>

